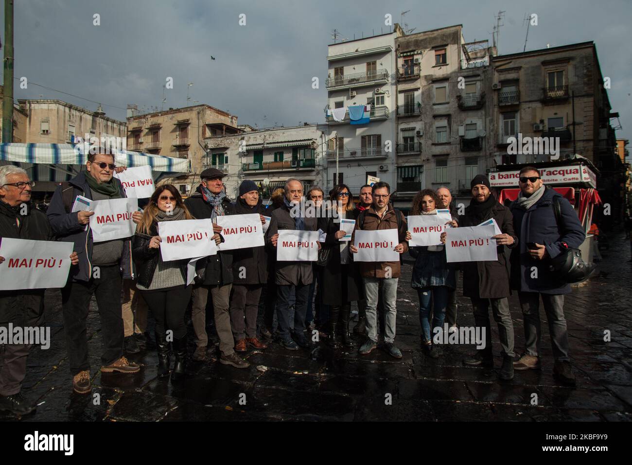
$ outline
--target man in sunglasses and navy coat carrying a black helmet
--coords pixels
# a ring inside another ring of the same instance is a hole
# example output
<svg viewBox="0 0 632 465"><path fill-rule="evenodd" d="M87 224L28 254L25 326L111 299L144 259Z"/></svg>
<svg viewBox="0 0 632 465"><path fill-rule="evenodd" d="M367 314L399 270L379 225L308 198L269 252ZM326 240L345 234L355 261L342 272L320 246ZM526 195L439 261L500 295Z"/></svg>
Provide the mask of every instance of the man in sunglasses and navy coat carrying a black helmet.
<svg viewBox="0 0 632 465"><path fill-rule="evenodd" d="M511 288L525 323L525 354L514 369L540 368L540 298L549 321L549 333L557 380L574 387L575 376L568 357L568 330L564 319L564 294L571 286L549 271L549 259L566 249L578 249L586 235L573 207L553 189L547 189L533 166L520 170L520 194L509 208L513 214L518 246L511 250ZM559 203L556 219L554 204Z"/></svg>

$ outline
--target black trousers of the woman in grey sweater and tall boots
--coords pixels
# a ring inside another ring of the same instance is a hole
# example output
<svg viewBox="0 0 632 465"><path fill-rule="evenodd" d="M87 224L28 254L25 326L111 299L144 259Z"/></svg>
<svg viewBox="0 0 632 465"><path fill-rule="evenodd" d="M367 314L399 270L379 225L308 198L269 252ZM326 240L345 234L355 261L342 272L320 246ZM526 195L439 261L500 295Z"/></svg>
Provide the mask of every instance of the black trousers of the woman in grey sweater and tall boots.
<svg viewBox="0 0 632 465"><path fill-rule="evenodd" d="M173 331L173 338L186 336L185 313L191 300L193 285L167 287L157 290L139 290L155 320L155 332Z"/></svg>

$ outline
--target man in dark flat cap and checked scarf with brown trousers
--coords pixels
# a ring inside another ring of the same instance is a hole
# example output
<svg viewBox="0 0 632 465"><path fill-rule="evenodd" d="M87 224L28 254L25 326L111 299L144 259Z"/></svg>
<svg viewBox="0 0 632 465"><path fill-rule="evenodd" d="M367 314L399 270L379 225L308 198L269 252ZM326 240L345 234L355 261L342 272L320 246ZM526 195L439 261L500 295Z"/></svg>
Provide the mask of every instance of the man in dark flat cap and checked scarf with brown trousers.
<svg viewBox="0 0 632 465"><path fill-rule="evenodd" d="M210 218L213 221L213 232L220 233L221 226L217 225L217 216L234 214L234 206L226 197L222 178L226 174L216 168L202 171L202 183L198 185L191 197L185 200L186 208L198 220ZM208 336L206 334L206 304L209 291L213 299L213 313L215 327L219 337L219 363L236 368L248 368L250 363L237 356L234 351L233 332L231 330L231 316L229 299L233 288L233 254L231 251L217 252L207 257L207 266L200 283L193 287L193 304L191 319L195 331L197 348L193 353L193 360L204 361L207 352Z"/></svg>

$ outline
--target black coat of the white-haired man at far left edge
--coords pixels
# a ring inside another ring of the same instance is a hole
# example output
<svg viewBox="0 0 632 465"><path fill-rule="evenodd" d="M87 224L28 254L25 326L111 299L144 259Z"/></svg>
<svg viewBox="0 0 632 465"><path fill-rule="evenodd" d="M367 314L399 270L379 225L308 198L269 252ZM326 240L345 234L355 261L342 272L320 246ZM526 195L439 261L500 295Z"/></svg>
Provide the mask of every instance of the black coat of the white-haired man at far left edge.
<svg viewBox="0 0 632 465"><path fill-rule="evenodd" d="M11 239L51 240L51 225L46 213L32 206L27 214L20 215L0 200L0 243L4 237ZM20 218L18 226L17 218ZM7 258L7 257L5 257ZM6 268L6 263L4 264ZM19 289L0 291L0 325L41 326L44 324L45 289Z"/></svg>

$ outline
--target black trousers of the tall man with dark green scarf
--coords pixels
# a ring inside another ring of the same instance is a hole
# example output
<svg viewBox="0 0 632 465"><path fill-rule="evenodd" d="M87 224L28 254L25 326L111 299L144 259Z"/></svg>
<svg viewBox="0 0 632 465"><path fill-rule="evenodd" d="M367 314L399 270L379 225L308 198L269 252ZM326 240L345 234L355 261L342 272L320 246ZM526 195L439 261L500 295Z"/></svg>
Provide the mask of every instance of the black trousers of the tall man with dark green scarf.
<svg viewBox="0 0 632 465"><path fill-rule="evenodd" d="M101 319L103 365L123 357L123 311L121 270L118 265L100 266L99 278L70 282L61 290L61 308L66 333L70 373L90 370L88 362L87 318L92 295L97 299Z"/></svg>

